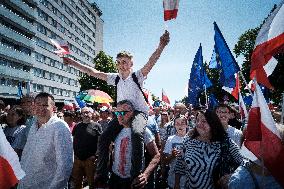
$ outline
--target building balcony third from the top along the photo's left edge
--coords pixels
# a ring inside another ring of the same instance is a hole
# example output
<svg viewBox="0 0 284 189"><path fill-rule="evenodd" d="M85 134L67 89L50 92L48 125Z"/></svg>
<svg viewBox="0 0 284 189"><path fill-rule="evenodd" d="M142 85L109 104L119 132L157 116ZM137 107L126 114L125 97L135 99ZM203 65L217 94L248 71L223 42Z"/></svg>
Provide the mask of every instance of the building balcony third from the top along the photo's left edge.
<svg viewBox="0 0 284 189"><path fill-rule="evenodd" d="M7 57L11 60L14 60L16 62L24 62L25 64L28 64L28 65L33 65L35 62L34 57L29 56L19 51L15 51L1 44L0 44L0 55Z"/></svg>

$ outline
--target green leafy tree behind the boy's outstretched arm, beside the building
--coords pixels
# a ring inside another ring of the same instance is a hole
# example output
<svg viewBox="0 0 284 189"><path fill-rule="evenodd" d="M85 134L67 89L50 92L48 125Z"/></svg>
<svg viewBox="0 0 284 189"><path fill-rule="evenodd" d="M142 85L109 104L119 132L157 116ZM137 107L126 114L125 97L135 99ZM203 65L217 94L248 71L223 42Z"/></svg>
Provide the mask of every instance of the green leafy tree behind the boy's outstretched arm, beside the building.
<svg viewBox="0 0 284 189"><path fill-rule="evenodd" d="M99 54L94 59L95 69L105 72L105 73L116 73L117 68L116 64L113 61L113 58L109 55L106 55L103 51L100 51ZM116 99L116 90L115 87L107 85L106 81L88 76L84 74L79 79L81 85L81 91L88 89L97 89L108 93L113 99Z"/></svg>

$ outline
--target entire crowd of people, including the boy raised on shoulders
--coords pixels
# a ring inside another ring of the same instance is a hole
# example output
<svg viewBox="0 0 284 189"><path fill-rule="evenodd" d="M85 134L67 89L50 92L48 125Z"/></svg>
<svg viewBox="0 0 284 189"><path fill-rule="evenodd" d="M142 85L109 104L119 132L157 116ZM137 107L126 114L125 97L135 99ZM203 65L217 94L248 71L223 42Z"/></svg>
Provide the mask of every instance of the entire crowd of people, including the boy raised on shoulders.
<svg viewBox="0 0 284 189"><path fill-rule="evenodd" d="M58 110L45 92L13 107L0 101L1 127L26 173L15 187L281 188L261 161L241 153L245 123L232 107L147 106L143 81L168 42L166 31L136 72L128 52L117 55L119 73L75 65L116 86L115 107Z"/></svg>

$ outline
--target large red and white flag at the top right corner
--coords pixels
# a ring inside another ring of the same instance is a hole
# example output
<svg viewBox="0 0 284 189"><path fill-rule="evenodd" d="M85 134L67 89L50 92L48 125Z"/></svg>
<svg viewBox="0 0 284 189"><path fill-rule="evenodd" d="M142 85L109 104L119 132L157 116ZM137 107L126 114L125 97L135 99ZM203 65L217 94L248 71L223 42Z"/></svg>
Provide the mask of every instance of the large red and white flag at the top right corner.
<svg viewBox="0 0 284 189"><path fill-rule="evenodd" d="M284 53L284 1L267 18L262 25L251 57L250 77L258 83L272 88L268 76L277 65L273 56Z"/></svg>

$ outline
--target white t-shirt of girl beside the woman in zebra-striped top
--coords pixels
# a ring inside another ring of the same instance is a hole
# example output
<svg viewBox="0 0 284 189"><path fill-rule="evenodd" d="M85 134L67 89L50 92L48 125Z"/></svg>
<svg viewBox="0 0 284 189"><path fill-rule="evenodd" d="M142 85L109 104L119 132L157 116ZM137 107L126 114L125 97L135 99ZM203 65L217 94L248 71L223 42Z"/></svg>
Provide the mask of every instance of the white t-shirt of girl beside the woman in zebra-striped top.
<svg viewBox="0 0 284 189"><path fill-rule="evenodd" d="M180 137L180 136L177 136L177 135L172 135L168 138L168 140L166 142L164 153L165 154L171 154L172 150L174 148L181 150L182 144L183 144L183 137ZM174 188L174 186L175 186L175 172L174 172L175 165L176 165L176 159L173 159L171 161L171 163L169 164L170 170L169 170L169 173L168 173L168 185L171 188ZM184 186L185 186L185 176L181 176L180 188L184 188Z"/></svg>

